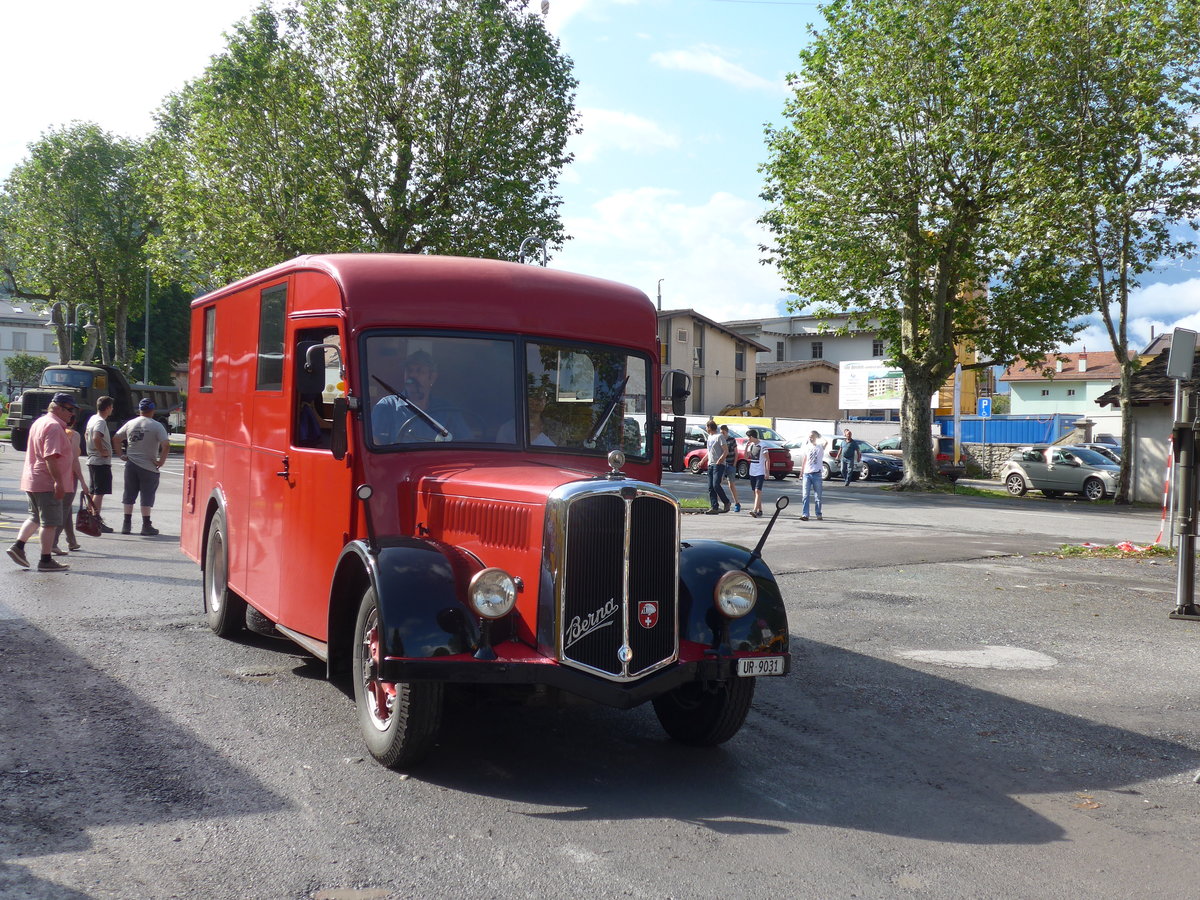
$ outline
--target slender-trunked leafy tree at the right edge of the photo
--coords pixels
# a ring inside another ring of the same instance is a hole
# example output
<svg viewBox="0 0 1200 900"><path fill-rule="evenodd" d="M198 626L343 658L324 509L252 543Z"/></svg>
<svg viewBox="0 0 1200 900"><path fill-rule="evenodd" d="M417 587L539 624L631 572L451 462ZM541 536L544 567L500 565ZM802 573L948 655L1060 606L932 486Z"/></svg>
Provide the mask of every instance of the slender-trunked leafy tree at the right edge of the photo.
<svg viewBox="0 0 1200 900"><path fill-rule="evenodd" d="M1063 256L1091 271L1091 302L1121 362L1121 442L1133 446L1129 294L1139 276L1195 244L1175 227L1200 214L1200 20L1195 2L1054 0L1038 47L1061 97L1031 132L1054 151L1038 174L1057 200ZM1133 454L1116 502L1129 503Z"/></svg>

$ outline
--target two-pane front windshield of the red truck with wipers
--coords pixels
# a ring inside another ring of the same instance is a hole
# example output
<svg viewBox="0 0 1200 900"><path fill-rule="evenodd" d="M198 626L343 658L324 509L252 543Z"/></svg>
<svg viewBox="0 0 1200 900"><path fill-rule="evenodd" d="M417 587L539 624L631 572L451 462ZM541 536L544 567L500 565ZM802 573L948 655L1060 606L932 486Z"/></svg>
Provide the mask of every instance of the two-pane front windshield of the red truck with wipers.
<svg viewBox="0 0 1200 900"><path fill-rule="evenodd" d="M362 347L374 449L468 443L599 455L622 449L635 457L649 451L644 356L528 341L518 372L517 340L377 332ZM584 446L595 428L594 444Z"/></svg>

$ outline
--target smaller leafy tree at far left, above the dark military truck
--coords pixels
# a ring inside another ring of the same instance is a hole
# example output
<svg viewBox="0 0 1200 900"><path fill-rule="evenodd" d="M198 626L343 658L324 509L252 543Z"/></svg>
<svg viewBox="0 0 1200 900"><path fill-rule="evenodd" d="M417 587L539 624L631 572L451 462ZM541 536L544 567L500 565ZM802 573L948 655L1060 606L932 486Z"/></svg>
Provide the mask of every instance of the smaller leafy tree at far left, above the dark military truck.
<svg viewBox="0 0 1200 900"><path fill-rule="evenodd" d="M80 305L113 335L118 365L126 361L125 320L152 224L140 162L136 142L76 122L31 144L0 193L0 270L14 296L43 308L62 301L54 320L64 362L73 350L65 322L83 324Z"/></svg>

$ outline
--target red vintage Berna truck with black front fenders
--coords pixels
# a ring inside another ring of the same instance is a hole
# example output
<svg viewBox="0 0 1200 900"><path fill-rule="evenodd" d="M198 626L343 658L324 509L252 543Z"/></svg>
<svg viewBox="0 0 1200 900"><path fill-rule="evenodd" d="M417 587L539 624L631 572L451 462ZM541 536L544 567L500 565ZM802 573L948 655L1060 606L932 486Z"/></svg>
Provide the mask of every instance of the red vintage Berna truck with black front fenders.
<svg viewBox="0 0 1200 900"><path fill-rule="evenodd" d="M431 750L448 684L732 737L790 668L787 617L761 541L680 541L656 325L629 287L428 256L301 257L194 300L180 541L212 630L349 677L386 766Z"/></svg>

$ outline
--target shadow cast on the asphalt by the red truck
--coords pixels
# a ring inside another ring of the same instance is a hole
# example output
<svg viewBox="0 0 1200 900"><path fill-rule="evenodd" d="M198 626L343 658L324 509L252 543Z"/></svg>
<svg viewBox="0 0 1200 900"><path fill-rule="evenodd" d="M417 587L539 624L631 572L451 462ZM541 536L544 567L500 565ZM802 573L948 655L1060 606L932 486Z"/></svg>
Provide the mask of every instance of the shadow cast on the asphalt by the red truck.
<svg viewBox="0 0 1200 900"><path fill-rule="evenodd" d="M760 679L730 743L666 739L649 707L460 710L414 774L559 806L564 821L670 818L719 833L815 824L962 844L1040 845L1062 828L1014 797L1120 788L1200 763L1183 744L810 641Z"/></svg>

